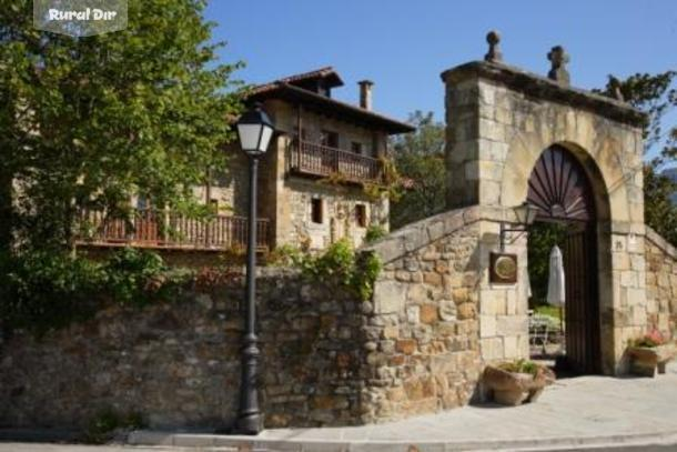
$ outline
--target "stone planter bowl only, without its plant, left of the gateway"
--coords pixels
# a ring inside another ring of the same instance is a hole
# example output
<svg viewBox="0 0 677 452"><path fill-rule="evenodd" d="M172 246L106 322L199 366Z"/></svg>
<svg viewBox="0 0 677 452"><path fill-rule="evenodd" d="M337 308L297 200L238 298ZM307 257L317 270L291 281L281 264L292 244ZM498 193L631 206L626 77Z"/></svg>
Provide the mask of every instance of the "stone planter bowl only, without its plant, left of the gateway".
<svg viewBox="0 0 677 452"><path fill-rule="evenodd" d="M496 403L516 406L524 402L535 402L546 385L555 380L548 369L539 369L536 375L531 373L508 372L488 365L484 370L483 383L493 394Z"/></svg>

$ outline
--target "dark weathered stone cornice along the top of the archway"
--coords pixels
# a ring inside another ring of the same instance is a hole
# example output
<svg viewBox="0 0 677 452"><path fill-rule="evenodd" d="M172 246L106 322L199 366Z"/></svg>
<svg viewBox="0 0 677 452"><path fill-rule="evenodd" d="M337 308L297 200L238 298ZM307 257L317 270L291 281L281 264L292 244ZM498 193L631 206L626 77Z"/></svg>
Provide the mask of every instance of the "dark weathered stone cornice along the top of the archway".
<svg viewBox="0 0 677 452"><path fill-rule="evenodd" d="M525 96L584 109L634 127L643 127L646 121L644 112L627 103L582 89L563 87L546 77L503 63L472 61L448 69L441 77L445 83L452 84L474 77L492 80Z"/></svg>

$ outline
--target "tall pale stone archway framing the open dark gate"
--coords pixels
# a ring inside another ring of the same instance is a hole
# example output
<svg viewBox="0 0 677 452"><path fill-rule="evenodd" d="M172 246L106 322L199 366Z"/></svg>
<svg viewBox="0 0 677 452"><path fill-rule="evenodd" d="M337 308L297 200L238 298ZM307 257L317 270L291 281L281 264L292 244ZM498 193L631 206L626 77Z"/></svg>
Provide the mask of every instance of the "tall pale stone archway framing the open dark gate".
<svg viewBox="0 0 677 452"><path fill-rule="evenodd" d="M479 342L486 361L528 356L526 240L517 282L489 280L499 224L515 223L542 152L557 143L582 164L595 199L602 372L623 373L629 339L647 328L644 250L644 115L630 106L503 64L472 62L445 71L449 209L479 205ZM496 219L497 218L497 219Z"/></svg>

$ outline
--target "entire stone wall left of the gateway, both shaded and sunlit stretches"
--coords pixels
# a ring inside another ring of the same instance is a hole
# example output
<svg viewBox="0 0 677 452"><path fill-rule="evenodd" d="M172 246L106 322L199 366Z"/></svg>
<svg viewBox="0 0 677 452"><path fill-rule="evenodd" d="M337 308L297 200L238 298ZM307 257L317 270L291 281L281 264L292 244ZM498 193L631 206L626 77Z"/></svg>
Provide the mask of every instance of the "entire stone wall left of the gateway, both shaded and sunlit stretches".
<svg viewBox="0 0 677 452"><path fill-rule="evenodd" d="M484 365L481 234L504 218L501 209L461 209L364 249L384 262L371 301L264 269L266 426L374 423L466 404ZM242 277L201 281L171 302L111 305L41 340L24 333L2 343L0 426L81 428L104 410L139 412L155 429L228 426L240 385ZM492 339L505 341L501 334Z"/></svg>

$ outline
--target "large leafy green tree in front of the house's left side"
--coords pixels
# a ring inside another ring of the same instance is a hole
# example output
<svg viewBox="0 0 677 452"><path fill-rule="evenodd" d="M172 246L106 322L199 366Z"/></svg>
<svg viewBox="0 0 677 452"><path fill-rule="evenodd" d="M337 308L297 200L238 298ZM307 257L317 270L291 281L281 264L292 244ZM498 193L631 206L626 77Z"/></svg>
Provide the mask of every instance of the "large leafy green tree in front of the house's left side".
<svg viewBox="0 0 677 452"><path fill-rule="evenodd" d="M205 0L129 2L127 30L40 31L32 1L0 8L0 247L67 249L82 208L131 193L194 210L191 187L224 163L239 112Z"/></svg>

